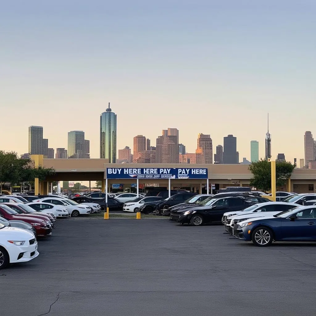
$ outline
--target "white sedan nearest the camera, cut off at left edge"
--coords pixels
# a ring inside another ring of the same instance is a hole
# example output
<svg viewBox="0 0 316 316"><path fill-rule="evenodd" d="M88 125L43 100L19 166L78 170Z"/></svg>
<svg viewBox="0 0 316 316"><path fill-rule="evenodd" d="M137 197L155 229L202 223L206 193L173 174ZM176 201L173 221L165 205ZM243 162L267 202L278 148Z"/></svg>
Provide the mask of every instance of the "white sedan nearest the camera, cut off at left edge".
<svg viewBox="0 0 316 316"><path fill-rule="evenodd" d="M33 233L0 224L0 269L10 263L30 261L38 255Z"/></svg>

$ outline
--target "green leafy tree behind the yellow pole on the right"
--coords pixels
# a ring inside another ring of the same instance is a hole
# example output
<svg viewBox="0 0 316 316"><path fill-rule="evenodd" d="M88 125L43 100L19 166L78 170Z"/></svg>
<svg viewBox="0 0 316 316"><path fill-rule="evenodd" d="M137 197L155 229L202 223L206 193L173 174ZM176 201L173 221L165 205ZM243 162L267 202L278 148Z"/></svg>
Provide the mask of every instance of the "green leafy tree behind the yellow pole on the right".
<svg viewBox="0 0 316 316"><path fill-rule="evenodd" d="M287 161L276 161L276 187L281 187L286 184L287 179L293 173L295 166ZM249 165L249 170L253 174L250 180L250 185L257 190L271 190L271 163L267 160L252 162Z"/></svg>

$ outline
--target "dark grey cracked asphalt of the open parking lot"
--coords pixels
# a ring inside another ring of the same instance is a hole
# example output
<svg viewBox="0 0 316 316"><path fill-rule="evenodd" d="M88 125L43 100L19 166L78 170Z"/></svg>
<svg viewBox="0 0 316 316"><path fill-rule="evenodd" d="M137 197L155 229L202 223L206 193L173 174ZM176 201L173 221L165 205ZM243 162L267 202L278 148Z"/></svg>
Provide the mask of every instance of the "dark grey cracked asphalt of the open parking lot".
<svg viewBox="0 0 316 316"><path fill-rule="evenodd" d="M315 315L315 243L259 248L223 231L59 220L38 258L0 271L0 314Z"/></svg>

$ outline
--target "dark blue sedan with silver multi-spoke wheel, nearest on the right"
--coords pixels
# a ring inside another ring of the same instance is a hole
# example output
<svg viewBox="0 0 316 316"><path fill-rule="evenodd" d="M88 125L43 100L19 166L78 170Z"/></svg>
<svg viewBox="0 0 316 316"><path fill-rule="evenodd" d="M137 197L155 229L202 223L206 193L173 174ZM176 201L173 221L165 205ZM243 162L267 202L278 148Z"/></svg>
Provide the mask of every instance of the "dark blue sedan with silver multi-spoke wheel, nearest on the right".
<svg viewBox="0 0 316 316"><path fill-rule="evenodd" d="M316 241L316 206L240 222L236 237L259 247L270 246L272 241Z"/></svg>

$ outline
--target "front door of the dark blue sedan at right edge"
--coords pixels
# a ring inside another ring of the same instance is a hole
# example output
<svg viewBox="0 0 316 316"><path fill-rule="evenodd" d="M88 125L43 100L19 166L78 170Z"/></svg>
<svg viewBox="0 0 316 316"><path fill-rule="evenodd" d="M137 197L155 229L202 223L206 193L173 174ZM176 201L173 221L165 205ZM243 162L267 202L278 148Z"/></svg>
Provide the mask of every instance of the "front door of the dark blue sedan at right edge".
<svg viewBox="0 0 316 316"><path fill-rule="evenodd" d="M294 215L296 218L282 219L281 240L316 240L316 208L300 210Z"/></svg>

